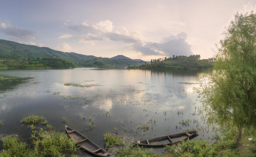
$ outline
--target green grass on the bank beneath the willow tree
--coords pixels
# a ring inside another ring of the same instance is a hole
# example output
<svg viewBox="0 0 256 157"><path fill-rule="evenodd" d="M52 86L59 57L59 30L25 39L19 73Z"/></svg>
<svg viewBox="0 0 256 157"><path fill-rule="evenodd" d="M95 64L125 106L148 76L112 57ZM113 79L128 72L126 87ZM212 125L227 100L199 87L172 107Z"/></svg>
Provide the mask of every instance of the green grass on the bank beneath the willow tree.
<svg viewBox="0 0 256 157"><path fill-rule="evenodd" d="M237 136L236 128L223 129L213 143L205 140L186 140L172 146L166 146L166 150L175 157L256 157L256 140L248 140L248 137L256 139L256 130L243 130L242 139L238 147L235 146ZM248 146L248 147L246 147Z"/></svg>

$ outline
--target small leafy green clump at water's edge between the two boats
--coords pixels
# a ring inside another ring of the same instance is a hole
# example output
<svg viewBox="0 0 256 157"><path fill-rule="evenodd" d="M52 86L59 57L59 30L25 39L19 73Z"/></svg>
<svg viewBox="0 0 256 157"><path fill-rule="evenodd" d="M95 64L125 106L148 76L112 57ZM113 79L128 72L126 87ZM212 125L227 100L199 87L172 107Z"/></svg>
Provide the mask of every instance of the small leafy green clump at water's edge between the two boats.
<svg viewBox="0 0 256 157"><path fill-rule="evenodd" d="M105 147L113 147L113 146L124 146L125 145L125 135L116 135L111 133L106 133L104 135L104 144Z"/></svg>

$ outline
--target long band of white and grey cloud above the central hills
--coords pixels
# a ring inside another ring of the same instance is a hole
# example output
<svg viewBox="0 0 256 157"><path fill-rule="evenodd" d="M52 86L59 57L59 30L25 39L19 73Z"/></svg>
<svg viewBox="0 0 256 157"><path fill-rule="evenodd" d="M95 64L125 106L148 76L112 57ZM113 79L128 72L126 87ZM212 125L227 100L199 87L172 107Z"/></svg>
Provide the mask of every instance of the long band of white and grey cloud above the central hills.
<svg viewBox="0 0 256 157"><path fill-rule="evenodd" d="M172 55L193 55L190 45L186 41L187 34L185 32L164 38L162 42L152 42L146 41L139 33L129 33L126 27L115 27L110 20L100 21L91 26L83 23L80 25L67 25L67 27L78 32L88 31L86 34L81 34L78 41L84 44L95 44L95 41L123 41L126 44L130 44L130 48L133 51L140 52L143 55L163 55L168 57Z"/></svg>

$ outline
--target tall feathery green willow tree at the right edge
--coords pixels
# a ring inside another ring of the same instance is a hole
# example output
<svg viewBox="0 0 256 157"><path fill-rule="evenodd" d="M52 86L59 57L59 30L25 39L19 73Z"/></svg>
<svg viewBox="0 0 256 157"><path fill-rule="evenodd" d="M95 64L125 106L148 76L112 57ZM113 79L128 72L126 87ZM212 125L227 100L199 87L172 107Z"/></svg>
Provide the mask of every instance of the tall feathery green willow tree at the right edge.
<svg viewBox="0 0 256 157"><path fill-rule="evenodd" d="M208 119L221 126L256 126L256 14L235 14L215 55L214 72L201 81L200 98Z"/></svg>

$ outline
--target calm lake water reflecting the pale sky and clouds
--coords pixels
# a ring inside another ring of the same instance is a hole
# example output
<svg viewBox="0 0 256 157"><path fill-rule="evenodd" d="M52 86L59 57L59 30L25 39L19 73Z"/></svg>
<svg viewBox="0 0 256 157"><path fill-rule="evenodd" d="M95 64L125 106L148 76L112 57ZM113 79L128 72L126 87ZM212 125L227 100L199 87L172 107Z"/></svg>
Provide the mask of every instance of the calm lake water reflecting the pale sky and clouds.
<svg viewBox="0 0 256 157"><path fill-rule="evenodd" d="M4 120L0 134L18 133L28 139L31 131L20 120L32 115L44 116L60 132L66 124L100 147L103 135L115 133L114 128L131 141L203 127L197 114L200 103L193 94L200 73L96 68L0 71L2 76L33 77L0 93L0 120ZM205 132L200 130L198 137L206 138Z"/></svg>

